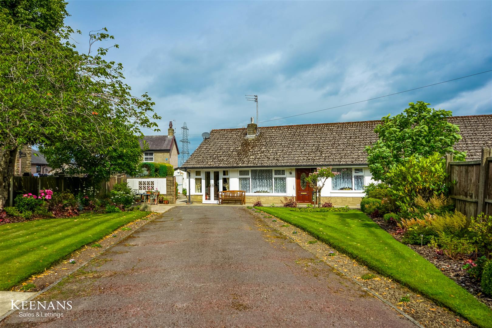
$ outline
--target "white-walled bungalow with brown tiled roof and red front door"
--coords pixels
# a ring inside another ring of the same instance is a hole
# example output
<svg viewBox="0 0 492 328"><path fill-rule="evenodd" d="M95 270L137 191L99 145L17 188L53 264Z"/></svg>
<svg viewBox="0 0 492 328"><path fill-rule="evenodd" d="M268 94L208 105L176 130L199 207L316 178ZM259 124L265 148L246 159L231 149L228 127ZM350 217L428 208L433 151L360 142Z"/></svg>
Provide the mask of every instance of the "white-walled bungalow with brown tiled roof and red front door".
<svg viewBox="0 0 492 328"><path fill-rule="evenodd" d="M455 149L467 159L492 147L492 115L449 119L461 129ZM358 206L373 182L365 146L377 140L380 120L212 130L181 169L188 173L191 202L216 204L221 190L246 191L246 203L280 204L284 197L313 204L306 177L317 167L339 172L321 191L321 202Z"/></svg>

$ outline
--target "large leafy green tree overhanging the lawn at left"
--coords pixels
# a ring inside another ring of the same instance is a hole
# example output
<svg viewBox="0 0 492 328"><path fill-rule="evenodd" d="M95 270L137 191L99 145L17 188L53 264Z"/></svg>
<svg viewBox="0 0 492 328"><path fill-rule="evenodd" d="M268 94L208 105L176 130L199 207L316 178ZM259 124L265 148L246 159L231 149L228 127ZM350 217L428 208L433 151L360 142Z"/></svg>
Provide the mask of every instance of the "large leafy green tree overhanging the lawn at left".
<svg viewBox="0 0 492 328"><path fill-rule="evenodd" d="M98 178L126 164L136 169L140 128L158 131L154 119L160 118L146 93L131 94L123 65L104 59L109 48L94 51L95 42L114 37L106 29L90 33L89 51L82 54L69 41L74 32L69 27L43 31L15 19L0 8L0 209L17 150L25 145L39 145L56 165L75 163Z"/></svg>

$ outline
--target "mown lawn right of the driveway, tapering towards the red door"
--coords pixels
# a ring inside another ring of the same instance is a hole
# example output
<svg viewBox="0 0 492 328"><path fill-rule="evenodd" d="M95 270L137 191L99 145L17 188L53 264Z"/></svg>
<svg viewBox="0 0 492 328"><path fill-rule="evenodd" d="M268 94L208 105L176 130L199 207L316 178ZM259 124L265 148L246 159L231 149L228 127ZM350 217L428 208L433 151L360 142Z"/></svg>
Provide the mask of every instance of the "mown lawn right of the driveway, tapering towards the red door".
<svg viewBox="0 0 492 328"><path fill-rule="evenodd" d="M257 207L303 229L340 252L365 263L480 327L492 327L491 309L446 277L429 261L394 239L359 210L301 212Z"/></svg>

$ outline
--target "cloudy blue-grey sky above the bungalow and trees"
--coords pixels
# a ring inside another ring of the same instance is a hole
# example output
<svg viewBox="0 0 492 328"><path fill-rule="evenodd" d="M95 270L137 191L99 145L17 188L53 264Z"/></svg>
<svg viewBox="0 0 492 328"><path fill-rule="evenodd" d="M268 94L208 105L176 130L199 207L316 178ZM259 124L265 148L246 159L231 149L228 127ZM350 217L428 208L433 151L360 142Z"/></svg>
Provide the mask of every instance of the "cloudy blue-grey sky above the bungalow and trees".
<svg viewBox="0 0 492 328"><path fill-rule="evenodd" d="M286 116L492 69L492 1L69 0L66 23L106 27L136 95L149 92L190 153L203 132L380 119L423 100L456 115L492 114L492 74L288 119ZM262 121L272 120L261 123ZM144 131L145 134L157 134Z"/></svg>

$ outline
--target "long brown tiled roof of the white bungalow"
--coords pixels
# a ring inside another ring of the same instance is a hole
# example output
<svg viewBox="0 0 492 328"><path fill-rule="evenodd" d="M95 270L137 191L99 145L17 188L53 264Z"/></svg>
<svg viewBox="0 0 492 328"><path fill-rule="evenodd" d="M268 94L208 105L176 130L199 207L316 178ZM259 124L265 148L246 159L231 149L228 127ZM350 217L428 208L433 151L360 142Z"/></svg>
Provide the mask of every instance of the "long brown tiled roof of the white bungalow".
<svg viewBox="0 0 492 328"><path fill-rule="evenodd" d="M483 147L492 148L492 115L449 118L460 126L455 149L468 160L480 159ZM212 130L181 168L233 168L265 166L331 166L367 164L365 146L377 140L380 120L260 126L255 138L246 128Z"/></svg>

